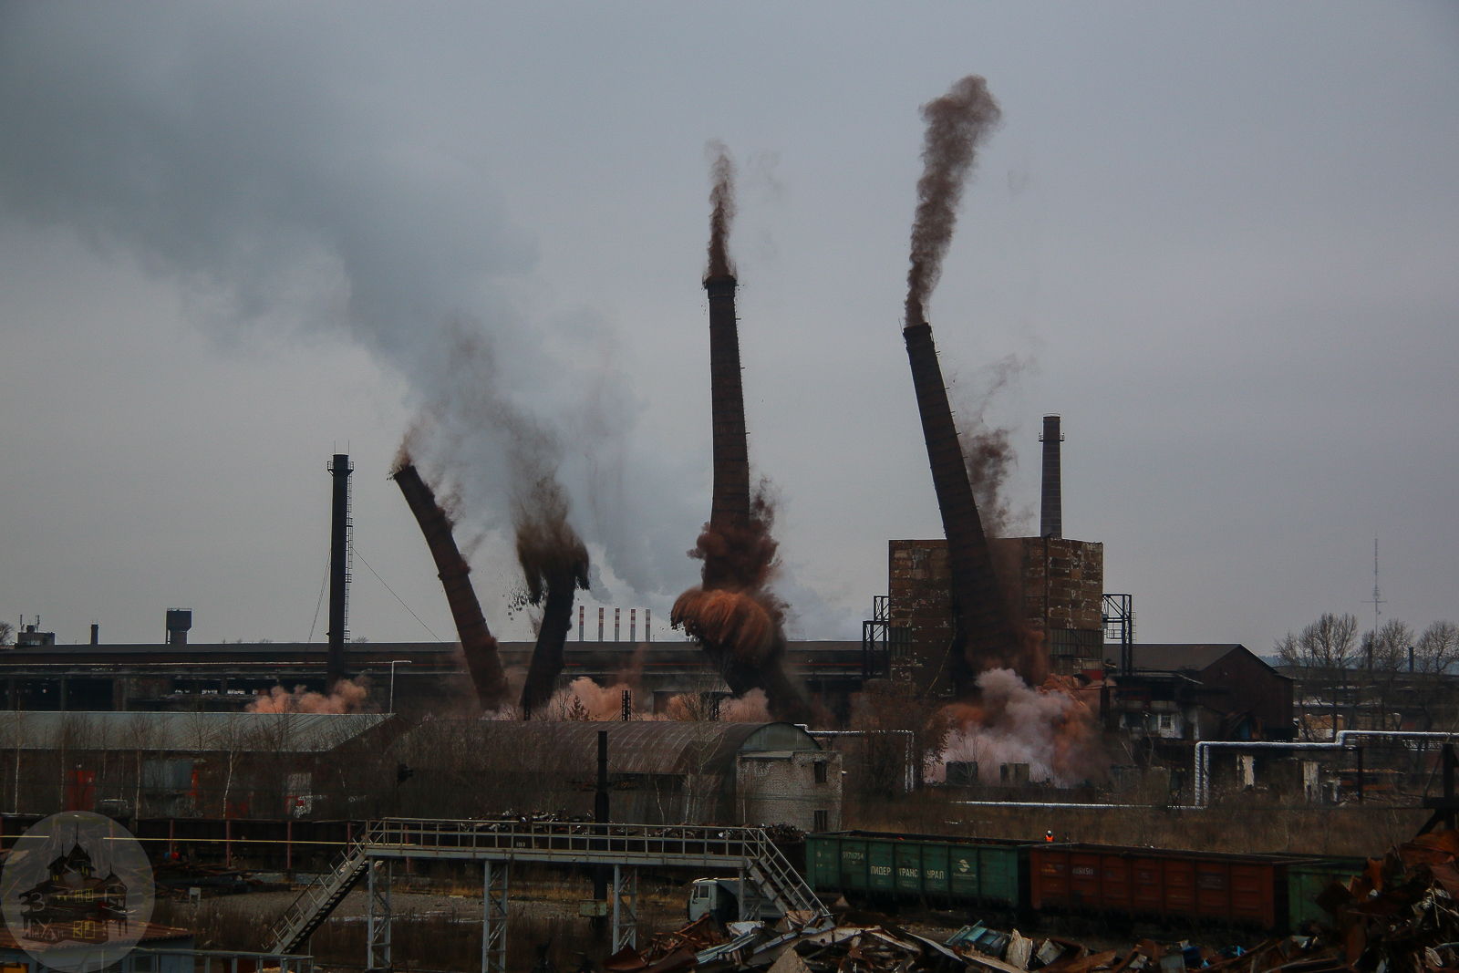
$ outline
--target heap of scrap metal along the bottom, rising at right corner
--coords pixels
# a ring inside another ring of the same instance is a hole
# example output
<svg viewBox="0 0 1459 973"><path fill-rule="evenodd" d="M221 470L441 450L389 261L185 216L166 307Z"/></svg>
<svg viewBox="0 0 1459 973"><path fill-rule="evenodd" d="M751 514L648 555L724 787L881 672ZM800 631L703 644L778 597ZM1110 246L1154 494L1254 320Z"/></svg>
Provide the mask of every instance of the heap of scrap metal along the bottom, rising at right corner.
<svg viewBox="0 0 1459 973"><path fill-rule="evenodd" d="M627 947L605 973L1459 973L1459 831L1421 836L1334 881L1317 904L1331 916L1303 935L1253 948L1141 939L1094 950L1061 937L1024 937L976 923L945 942L864 912L792 915L770 926L709 916L643 953ZM941 938L941 937L938 937Z"/></svg>

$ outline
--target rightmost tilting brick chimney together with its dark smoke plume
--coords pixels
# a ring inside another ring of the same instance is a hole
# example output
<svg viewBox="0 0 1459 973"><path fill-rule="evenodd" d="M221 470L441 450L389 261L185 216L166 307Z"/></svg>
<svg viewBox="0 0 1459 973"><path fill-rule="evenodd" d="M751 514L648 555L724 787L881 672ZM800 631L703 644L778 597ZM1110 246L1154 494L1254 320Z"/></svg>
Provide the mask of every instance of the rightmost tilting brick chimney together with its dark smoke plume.
<svg viewBox="0 0 1459 973"><path fill-rule="evenodd" d="M975 147L999 118L988 83L969 76L922 106L926 136L922 144L922 178L918 179L916 217L907 270L906 325L902 331L912 365L922 436L932 467L937 506L943 513L953 582L953 645L948 671L961 696L975 689L983 670L1013 665L1018 642L1008 619L988 537L967 478L963 448L947 401L943 369L926 322L925 305L943 273L943 258L953 241L957 207L972 171Z"/></svg>

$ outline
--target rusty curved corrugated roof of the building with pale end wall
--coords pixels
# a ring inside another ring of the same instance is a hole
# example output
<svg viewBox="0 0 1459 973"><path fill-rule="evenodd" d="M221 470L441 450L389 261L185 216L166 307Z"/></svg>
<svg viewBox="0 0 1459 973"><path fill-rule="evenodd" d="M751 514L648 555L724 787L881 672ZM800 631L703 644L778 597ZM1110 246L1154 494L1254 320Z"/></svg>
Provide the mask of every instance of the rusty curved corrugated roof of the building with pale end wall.
<svg viewBox="0 0 1459 973"><path fill-rule="evenodd" d="M560 766L582 767L591 778L598 766L598 731L608 731L611 773L708 773L724 770L735 754L762 750L820 750L794 724L728 724L693 721L476 721L484 747L550 750Z"/></svg>

